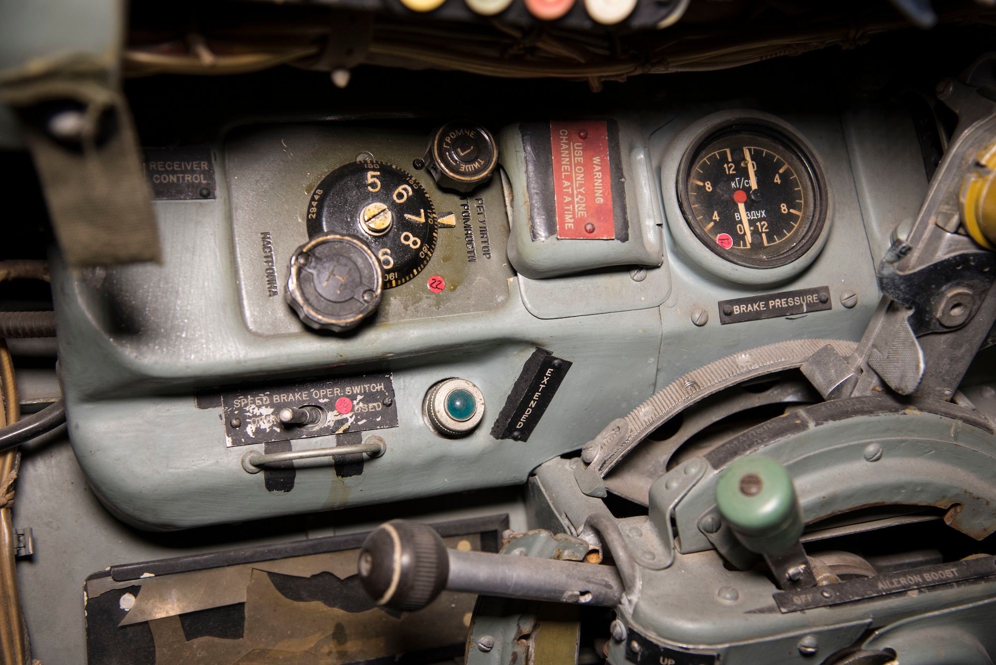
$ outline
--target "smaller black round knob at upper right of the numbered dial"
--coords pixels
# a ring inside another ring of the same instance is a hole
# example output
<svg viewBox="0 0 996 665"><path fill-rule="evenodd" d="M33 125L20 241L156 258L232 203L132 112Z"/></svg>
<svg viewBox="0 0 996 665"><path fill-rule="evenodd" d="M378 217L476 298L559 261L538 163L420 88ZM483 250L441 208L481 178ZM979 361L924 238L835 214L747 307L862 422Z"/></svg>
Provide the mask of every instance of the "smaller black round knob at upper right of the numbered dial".
<svg viewBox="0 0 996 665"><path fill-rule="evenodd" d="M432 132L425 167L443 189L466 193L491 179L498 148L491 132L469 120L453 120Z"/></svg>

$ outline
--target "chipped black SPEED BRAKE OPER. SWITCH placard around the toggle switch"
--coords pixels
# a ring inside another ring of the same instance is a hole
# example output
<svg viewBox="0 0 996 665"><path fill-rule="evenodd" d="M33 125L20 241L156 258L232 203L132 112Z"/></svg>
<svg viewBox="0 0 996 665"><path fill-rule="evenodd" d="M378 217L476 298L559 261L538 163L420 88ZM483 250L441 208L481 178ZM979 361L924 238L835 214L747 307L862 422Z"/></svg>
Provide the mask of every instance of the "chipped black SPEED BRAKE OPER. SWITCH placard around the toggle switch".
<svg viewBox="0 0 996 665"><path fill-rule="evenodd" d="M311 425L285 425L279 413L288 406L318 407L322 418ZM221 407L229 446L397 427L389 373L223 392Z"/></svg>

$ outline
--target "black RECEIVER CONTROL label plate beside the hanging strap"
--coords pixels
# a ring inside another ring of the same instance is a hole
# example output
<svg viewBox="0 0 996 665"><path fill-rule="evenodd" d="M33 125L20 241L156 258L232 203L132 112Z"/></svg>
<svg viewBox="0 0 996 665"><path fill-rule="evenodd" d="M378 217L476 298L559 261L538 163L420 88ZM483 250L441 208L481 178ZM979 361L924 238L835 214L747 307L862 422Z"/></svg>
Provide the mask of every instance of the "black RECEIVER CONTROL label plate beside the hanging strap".
<svg viewBox="0 0 996 665"><path fill-rule="evenodd" d="M143 166L154 199L214 198L210 148L145 148Z"/></svg>

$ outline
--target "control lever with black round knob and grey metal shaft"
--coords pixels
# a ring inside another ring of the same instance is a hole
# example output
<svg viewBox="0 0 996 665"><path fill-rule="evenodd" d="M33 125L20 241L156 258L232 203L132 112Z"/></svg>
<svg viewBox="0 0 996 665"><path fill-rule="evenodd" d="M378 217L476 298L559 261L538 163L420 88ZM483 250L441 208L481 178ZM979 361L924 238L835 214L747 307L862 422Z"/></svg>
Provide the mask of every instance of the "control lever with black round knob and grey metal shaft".
<svg viewBox="0 0 996 665"><path fill-rule="evenodd" d="M378 605L425 607L445 588L526 600L614 607L622 580L609 565L446 548L434 529L407 520L380 525L360 551L360 581Z"/></svg>

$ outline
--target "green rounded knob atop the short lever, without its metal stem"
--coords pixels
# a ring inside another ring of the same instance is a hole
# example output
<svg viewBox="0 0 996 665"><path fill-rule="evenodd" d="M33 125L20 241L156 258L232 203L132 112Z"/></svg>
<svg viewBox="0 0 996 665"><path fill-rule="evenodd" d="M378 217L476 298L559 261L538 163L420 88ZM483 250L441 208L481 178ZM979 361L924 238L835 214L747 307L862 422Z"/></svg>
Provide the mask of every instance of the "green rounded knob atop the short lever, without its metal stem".
<svg viewBox="0 0 996 665"><path fill-rule="evenodd" d="M802 508L792 477L769 457L751 455L726 467L716 482L716 505L751 552L781 552L802 536Z"/></svg>

